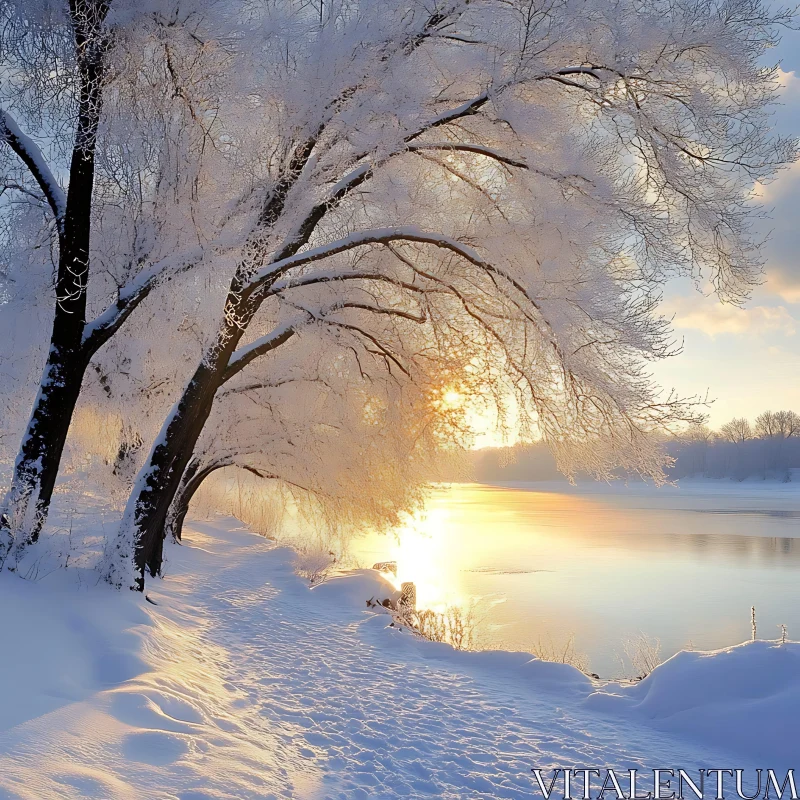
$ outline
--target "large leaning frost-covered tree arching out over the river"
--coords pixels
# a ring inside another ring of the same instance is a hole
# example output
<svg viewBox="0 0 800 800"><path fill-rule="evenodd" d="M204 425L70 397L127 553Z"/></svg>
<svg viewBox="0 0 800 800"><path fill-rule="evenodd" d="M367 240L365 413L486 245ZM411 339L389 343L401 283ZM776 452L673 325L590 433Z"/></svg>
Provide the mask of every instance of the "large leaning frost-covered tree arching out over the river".
<svg viewBox="0 0 800 800"><path fill-rule="evenodd" d="M246 102L208 146L260 165L249 221L109 578L157 572L216 398L306 332L401 382L452 357L510 389L563 464L659 476L647 432L687 410L645 368L671 352L657 287L692 274L739 300L757 278L751 190L795 155L761 65L787 17L758 0L275 0L237 19ZM209 12L194 35L215 31Z"/></svg>

